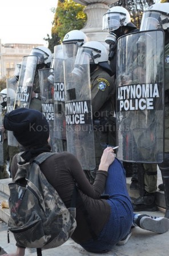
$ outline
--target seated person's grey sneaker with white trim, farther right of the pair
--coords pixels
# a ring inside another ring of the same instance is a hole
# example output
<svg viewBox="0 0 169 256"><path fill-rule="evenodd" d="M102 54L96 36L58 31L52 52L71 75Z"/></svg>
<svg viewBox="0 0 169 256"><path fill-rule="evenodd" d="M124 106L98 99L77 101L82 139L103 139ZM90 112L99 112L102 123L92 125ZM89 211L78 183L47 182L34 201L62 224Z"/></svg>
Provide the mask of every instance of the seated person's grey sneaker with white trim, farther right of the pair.
<svg viewBox="0 0 169 256"><path fill-rule="evenodd" d="M166 233L169 229L169 219L163 217L143 216L140 219L140 227L155 233Z"/></svg>

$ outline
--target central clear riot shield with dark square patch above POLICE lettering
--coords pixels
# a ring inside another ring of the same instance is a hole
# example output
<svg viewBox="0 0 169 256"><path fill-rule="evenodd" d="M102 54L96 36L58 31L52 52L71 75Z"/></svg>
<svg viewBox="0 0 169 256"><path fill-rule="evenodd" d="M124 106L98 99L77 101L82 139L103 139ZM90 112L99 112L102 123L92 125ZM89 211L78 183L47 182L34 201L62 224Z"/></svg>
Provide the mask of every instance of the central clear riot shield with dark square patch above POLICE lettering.
<svg viewBox="0 0 169 256"><path fill-rule="evenodd" d="M74 57L65 60L67 151L77 156L83 170L92 170L95 168L95 151L89 59L82 66L74 66L74 60Z"/></svg>

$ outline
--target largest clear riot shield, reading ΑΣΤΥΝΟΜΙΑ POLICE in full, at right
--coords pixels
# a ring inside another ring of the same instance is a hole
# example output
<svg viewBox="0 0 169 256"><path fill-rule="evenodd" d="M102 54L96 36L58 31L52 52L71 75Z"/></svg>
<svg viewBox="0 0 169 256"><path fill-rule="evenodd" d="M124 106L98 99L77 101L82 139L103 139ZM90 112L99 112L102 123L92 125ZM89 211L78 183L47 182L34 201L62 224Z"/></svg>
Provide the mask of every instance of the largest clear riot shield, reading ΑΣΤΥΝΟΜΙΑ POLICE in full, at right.
<svg viewBox="0 0 169 256"><path fill-rule="evenodd" d="M116 77L117 157L126 162L163 162L163 31L120 37Z"/></svg>

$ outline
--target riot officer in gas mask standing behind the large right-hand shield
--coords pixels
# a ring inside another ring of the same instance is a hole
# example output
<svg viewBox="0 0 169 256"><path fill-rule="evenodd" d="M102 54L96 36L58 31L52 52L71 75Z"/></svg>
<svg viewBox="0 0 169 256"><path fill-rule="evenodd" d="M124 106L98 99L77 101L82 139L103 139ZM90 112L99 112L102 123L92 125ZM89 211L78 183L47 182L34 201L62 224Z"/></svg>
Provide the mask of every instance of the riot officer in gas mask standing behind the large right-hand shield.
<svg viewBox="0 0 169 256"><path fill-rule="evenodd" d="M111 7L103 15L103 31L108 31L110 34L106 37L107 44L110 44L109 60L113 74L116 76L116 39L126 34L139 31L134 23L131 22L131 17L128 11L122 6ZM131 42L135 44L136 42ZM140 198L135 202L134 210L155 211L155 191L151 187L144 189L144 173L151 175L156 179L157 167L156 164L137 164L123 162L126 169L126 176L131 176L130 189L138 189ZM138 178L139 176L139 178ZM138 182L139 180L139 182Z"/></svg>

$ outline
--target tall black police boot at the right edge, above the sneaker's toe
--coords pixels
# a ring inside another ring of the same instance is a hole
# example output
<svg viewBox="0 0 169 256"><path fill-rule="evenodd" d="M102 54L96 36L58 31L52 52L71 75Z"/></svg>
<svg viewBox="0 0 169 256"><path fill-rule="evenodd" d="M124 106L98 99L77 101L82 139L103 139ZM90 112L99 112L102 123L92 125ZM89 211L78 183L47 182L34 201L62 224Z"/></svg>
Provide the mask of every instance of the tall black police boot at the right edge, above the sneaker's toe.
<svg viewBox="0 0 169 256"><path fill-rule="evenodd" d="M169 153L164 154L163 163L159 164L159 168L160 171L162 172L164 195L166 200L165 217L169 219Z"/></svg>

